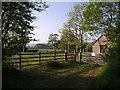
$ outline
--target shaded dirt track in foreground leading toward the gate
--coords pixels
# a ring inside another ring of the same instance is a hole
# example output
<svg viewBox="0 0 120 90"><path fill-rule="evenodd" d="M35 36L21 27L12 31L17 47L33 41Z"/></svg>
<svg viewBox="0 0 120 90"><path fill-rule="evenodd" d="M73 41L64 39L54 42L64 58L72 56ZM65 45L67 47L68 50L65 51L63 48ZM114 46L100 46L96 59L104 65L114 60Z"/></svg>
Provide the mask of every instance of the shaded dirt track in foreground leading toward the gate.
<svg viewBox="0 0 120 90"><path fill-rule="evenodd" d="M79 67L58 70L57 72L47 75L43 80L35 80L37 83L34 87L48 88L95 88L95 80L99 75L100 66L95 66L91 70L79 70ZM88 67L86 67L88 68ZM38 85L39 83L39 85Z"/></svg>

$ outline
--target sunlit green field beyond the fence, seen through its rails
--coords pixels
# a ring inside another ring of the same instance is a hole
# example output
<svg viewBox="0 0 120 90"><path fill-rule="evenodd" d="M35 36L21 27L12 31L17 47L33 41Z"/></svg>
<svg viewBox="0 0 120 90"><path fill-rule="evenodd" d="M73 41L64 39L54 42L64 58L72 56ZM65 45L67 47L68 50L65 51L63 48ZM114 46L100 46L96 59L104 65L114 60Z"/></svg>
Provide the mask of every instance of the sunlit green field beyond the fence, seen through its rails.
<svg viewBox="0 0 120 90"><path fill-rule="evenodd" d="M21 54L33 54L33 55L21 55L21 57L25 58L25 59L21 59L21 61L33 61L33 60L45 60L45 59L52 59L54 60L54 50L53 49L31 49L31 50L38 50L37 52L21 52ZM59 52L61 50L56 50L56 52ZM41 53L41 58L39 58L39 52ZM48 53L48 54L42 54L42 53ZM53 53L53 54L50 54L50 53ZM56 60L57 58L64 58L64 53L56 53L56 55L63 55L63 56L57 56L56 57ZM49 57L44 57L44 56L49 56ZM19 55L12 55L11 57L9 58L13 58L13 60L6 60L7 62L19 62L20 59L14 59L14 58L19 58L20 56ZM27 58L27 57L35 57L35 58ZM38 57L38 58L36 58ZM9 59L8 58L8 59ZM64 59L59 59L57 61L63 61ZM28 64L40 64L40 63L44 63L46 61L42 61L42 62L22 62L21 65L28 65ZM19 66L19 63L14 63L13 64L14 66Z"/></svg>

